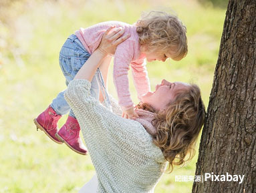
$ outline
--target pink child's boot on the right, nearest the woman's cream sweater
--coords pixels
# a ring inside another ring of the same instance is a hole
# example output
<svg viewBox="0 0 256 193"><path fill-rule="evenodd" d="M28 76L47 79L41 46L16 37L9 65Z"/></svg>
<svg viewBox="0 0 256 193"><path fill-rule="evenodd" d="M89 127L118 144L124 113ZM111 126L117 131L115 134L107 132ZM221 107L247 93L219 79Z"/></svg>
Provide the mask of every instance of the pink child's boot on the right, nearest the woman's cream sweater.
<svg viewBox="0 0 256 193"><path fill-rule="evenodd" d="M80 126L78 120L72 116L68 116L66 124L60 128L55 136L78 154L87 154L88 150L80 138Z"/></svg>

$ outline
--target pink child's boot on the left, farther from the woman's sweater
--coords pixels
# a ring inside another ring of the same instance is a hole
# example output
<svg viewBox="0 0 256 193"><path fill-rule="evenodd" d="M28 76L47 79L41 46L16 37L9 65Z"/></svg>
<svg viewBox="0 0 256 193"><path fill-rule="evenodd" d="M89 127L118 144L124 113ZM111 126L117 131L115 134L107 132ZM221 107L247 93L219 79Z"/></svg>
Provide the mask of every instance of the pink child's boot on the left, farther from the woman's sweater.
<svg viewBox="0 0 256 193"><path fill-rule="evenodd" d="M59 141L55 134L57 133L57 121L61 118L61 115L57 113L49 106L44 112L39 114L39 116L34 119L35 126L40 130L45 132L45 134L51 138L57 144L62 144L63 142Z"/></svg>

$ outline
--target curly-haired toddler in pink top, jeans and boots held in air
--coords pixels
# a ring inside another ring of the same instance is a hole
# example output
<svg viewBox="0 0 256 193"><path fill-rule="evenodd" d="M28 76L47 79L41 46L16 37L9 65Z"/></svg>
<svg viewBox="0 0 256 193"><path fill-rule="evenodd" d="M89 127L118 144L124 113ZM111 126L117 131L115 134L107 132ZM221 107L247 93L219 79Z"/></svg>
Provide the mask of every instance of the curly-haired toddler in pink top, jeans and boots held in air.
<svg viewBox="0 0 256 193"><path fill-rule="evenodd" d="M98 47L104 32L113 25L124 31L124 35L130 34L128 39L116 47L113 79L123 117L134 118L137 115L130 98L128 70L132 68L132 77L140 100L142 95L150 91L145 59L147 61L165 61L168 57L177 61L182 59L187 53L186 27L174 15L151 11L134 25L120 21L107 21L86 29L81 28L68 37L59 53L59 65L66 77L66 85ZM49 107L39 114L34 120L35 125L54 142L58 144L64 142L75 152L86 154L86 147L80 139L80 126L63 93L64 91L61 91ZM99 99L96 75L92 79L91 93ZM69 111L68 120L57 131L57 121Z"/></svg>

